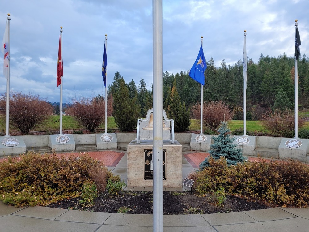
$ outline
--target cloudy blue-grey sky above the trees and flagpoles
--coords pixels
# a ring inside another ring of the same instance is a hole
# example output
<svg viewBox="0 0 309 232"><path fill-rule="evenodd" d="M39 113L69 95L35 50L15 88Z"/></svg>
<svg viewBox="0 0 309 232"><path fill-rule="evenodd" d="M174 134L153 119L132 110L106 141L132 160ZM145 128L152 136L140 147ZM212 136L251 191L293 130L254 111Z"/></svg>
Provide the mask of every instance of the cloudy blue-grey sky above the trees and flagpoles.
<svg viewBox="0 0 309 232"><path fill-rule="evenodd" d="M163 0L163 71L191 69L203 36L206 60L234 64L243 55L294 56L295 19L309 55L308 0ZM107 34L108 85L116 71L152 84L152 1L10 0L0 2L0 36L10 21L10 89L60 101L56 70L63 27L63 102L105 94L102 56ZM307 42L308 41L308 42ZM3 55L1 54L3 57ZM6 79L0 67L0 93ZM198 84L198 83L197 83Z"/></svg>

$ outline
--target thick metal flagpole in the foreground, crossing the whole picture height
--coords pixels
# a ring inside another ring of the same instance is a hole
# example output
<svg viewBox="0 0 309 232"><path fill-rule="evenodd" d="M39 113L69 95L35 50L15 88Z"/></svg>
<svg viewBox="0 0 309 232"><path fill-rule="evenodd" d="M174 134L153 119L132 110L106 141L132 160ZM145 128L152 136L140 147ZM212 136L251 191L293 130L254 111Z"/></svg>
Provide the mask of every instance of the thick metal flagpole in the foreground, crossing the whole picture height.
<svg viewBox="0 0 309 232"><path fill-rule="evenodd" d="M162 0L152 0L153 43L153 231L163 232Z"/></svg>

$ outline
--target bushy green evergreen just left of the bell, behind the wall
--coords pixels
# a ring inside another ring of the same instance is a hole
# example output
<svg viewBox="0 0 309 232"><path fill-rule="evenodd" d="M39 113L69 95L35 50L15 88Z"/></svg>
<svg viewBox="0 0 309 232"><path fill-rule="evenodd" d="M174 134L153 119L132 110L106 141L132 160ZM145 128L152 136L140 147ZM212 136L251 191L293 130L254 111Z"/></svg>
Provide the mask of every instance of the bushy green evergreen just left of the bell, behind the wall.
<svg viewBox="0 0 309 232"><path fill-rule="evenodd" d="M119 88L113 95L113 109L116 126L121 131L132 132L137 125L141 108L137 104L137 97L129 98L129 88L123 78L119 80Z"/></svg>

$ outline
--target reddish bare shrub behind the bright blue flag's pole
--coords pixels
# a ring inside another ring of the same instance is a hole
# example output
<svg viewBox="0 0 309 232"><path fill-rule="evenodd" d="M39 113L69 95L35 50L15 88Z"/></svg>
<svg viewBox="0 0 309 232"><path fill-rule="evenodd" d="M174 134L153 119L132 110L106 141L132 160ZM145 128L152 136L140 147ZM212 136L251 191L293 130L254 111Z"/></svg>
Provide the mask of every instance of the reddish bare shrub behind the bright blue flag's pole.
<svg viewBox="0 0 309 232"><path fill-rule="evenodd" d="M193 119L201 118L201 104L197 102L191 107ZM233 111L223 101L208 101L203 103L203 125L211 130L220 126L220 121L232 120Z"/></svg>

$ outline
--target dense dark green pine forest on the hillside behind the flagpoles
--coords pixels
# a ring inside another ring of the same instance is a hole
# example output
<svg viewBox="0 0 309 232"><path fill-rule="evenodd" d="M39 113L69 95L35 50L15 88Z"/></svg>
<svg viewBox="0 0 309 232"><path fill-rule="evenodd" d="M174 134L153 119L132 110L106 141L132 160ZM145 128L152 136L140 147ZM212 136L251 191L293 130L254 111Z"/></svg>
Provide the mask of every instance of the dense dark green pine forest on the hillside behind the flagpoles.
<svg viewBox="0 0 309 232"><path fill-rule="evenodd" d="M260 55L257 62L248 58L247 70L247 111L257 109L274 109L279 102L286 102L287 107L294 107L294 56L283 55L275 57ZM171 97L171 89L176 83L180 102L184 102L187 109L199 102L200 84L188 75L189 70L171 74L163 73L163 108ZM214 65L214 59L207 61L204 73L205 85L203 86L203 101L224 101L231 109L243 108L243 65L242 60L230 65L223 59L220 67ZM121 77L116 72L114 83L109 90L114 90L117 79ZM175 80L175 81L174 81ZM134 81L128 84L130 97L137 95L137 103L141 105L141 115L146 116L147 109L152 105L152 89L146 89L146 84L141 78L138 86ZM276 99L279 97L284 99ZM304 108L309 107L309 58L306 55L298 58L298 103ZM281 103L282 107L282 103ZM165 109L166 110L166 109ZM239 114L238 120L243 120ZM258 118L254 119L258 120Z"/></svg>

